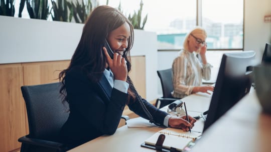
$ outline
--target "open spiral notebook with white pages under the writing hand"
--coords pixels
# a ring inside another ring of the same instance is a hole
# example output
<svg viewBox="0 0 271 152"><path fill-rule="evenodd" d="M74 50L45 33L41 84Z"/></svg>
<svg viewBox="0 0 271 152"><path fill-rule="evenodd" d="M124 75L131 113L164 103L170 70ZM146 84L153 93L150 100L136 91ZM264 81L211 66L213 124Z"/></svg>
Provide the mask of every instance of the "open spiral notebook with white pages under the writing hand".
<svg viewBox="0 0 271 152"><path fill-rule="evenodd" d="M201 136L201 132L198 131L191 130L190 133L189 131L186 132L181 129L165 128L156 132L141 145L156 149L157 139L160 134L165 134L165 140L162 146L163 151L170 151L172 148L176 149L176 151L185 151L187 147L194 144L193 141L195 141L196 138Z"/></svg>

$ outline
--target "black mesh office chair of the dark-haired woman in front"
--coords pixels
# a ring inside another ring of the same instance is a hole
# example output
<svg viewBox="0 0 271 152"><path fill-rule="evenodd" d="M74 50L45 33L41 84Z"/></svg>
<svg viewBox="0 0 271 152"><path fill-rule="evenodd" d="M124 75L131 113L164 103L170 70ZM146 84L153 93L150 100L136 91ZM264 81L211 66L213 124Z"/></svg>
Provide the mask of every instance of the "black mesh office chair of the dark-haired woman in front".
<svg viewBox="0 0 271 152"><path fill-rule="evenodd" d="M29 134L18 139L22 142L21 152L68 150L58 139L60 129L69 116L68 107L61 100L60 87L59 82L21 87L29 124ZM125 124L129 119L127 115L121 118Z"/></svg>

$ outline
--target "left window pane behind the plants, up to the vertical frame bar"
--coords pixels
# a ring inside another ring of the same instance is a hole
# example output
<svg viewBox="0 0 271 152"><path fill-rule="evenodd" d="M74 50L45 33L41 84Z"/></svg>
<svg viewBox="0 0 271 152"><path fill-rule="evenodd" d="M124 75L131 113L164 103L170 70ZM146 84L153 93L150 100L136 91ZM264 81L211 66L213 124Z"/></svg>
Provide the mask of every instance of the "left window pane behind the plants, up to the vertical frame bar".
<svg viewBox="0 0 271 152"><path fill-rule="evenodd" d="M117 7L120 0L109 0L108 5ZM99 0L105 4L106 0ZM121 0L123 14L137 11L141 0ZM154 4L155 3L155 4ZM148 14L144 29L158 34L159 49L178 49L187 31L196 25L196 0L143 0L142 18ZM142 19L143 20L143 19Z"/></svg>

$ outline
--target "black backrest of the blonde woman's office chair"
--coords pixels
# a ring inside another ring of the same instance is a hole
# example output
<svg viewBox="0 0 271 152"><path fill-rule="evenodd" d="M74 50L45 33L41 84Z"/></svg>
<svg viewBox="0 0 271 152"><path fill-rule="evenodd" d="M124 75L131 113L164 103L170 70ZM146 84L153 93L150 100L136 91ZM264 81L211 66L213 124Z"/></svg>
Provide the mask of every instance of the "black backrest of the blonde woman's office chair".
<svg viewBox="0 0 271 152"><path fill-rule="evenodd" d="M158 70L157 74L161 80L163 97L172 98L171 95L171 92L173 91L172 68Z"/></svg>

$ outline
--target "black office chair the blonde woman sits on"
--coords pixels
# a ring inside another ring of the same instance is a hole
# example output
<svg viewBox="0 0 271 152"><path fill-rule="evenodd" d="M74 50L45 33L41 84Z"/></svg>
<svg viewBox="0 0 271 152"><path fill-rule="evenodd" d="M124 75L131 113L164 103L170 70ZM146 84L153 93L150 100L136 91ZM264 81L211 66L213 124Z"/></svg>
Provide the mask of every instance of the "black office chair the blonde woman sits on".
<svg viewBox="0 0 271 152"><path fill-rule="evenodd" d="M171 95L171 92L173 91L172 68L158 70L157 74L161 80L163 96L156 100L155 106L160 108L180 98L174 98Z"/></svg>

